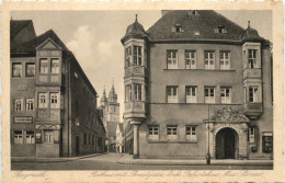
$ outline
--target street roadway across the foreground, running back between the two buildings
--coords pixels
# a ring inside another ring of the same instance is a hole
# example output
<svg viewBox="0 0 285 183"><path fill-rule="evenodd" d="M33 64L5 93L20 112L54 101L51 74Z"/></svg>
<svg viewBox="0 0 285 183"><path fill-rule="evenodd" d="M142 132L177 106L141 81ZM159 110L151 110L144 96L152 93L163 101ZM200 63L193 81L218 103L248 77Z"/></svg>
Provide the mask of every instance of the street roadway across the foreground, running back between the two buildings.
<svg viewBox="0 0 285 183"><path fill-rule="evenodd" d="M147 165L123 164L123 155L109 153L66 162L12 162L12 170L272 170L272 165Z"/></svg>

